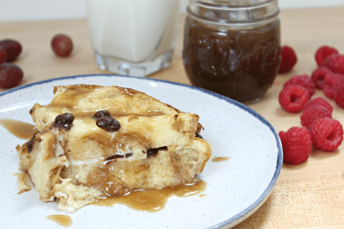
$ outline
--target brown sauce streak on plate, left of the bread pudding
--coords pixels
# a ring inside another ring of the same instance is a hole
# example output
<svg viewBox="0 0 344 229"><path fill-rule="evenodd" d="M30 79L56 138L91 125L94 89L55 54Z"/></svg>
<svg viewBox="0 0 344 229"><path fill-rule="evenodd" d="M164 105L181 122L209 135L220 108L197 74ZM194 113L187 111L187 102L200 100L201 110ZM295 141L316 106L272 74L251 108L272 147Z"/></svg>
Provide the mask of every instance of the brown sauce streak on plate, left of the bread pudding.
<svg viewBox="0 0 344 229"><path fill-rule="evenodd" d="M37 132L34 125L24 123L14 119L3 118L0 119L0 125L6 128L15 137L24 140L30 140L34 133Z"/></svg>

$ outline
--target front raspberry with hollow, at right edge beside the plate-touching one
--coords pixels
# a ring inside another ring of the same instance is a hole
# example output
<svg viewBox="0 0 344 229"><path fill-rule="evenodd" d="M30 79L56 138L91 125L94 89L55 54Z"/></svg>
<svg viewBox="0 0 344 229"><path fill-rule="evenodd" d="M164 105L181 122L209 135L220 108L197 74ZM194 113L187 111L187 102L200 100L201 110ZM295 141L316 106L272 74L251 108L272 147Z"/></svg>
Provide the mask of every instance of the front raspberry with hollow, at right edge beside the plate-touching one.
<svg viewBox="0 0 344 229"><path fill-rule="evenodd" d="M333 151L343 141L343 126L333 118L319 118L309 128L312 144L323 151Z"/></svg>

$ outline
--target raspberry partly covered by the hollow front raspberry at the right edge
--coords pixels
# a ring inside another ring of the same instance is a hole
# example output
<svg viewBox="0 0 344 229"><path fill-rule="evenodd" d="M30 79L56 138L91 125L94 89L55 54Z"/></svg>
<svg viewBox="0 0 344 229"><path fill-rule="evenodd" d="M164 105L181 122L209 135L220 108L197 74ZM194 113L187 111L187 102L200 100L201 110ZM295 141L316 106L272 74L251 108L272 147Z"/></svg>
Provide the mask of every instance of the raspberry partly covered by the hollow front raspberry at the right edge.
<svg viewBox="0 0 344 229"><path fill-rule="evenodd" d="M300 116L302 126L309 129L310 125L317 119L323 117L332 118L331 111L322 105L312 105L303 109Z"/></svg>

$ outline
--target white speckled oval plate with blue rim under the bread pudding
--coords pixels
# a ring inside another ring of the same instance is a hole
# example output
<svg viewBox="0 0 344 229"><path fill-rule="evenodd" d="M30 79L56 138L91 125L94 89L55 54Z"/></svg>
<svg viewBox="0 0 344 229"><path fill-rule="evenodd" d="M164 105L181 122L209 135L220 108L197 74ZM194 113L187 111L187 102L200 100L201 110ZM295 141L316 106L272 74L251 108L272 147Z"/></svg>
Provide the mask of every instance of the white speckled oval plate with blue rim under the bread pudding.
<svg viewBox="0 0 344 229"><path fill-rule="evenodd" d="M85 206L74 213L43 203L34 190L17 195L17 144L25 141L0 126L0 225L1 228L62 228L45 217L67 214L71 228L121 229L215 229L230 228L246 219L268 198L282 166L282 147L276 130L249 107L225 96L188 85L149 78L115 75L84 75L23 85L0 93L0 118L32 123L34 103L47 104L55 85L118 85L143 91L184 112L196 113L204 126L201 135L209 140L214 157L201 173L207 182L205 198L194 195L170 199L156 213L135 211L126 206Z"/></svg>

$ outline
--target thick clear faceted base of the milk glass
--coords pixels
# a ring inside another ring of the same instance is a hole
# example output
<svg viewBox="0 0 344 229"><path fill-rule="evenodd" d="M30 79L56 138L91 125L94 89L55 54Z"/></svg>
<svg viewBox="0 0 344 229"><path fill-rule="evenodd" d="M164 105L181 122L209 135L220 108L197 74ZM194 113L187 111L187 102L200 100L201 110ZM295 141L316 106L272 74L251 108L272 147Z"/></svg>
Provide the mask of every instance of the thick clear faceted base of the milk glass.
<svg viewBox="0 0 344 229"><path fill-rule="evenodd" d="M95 51L95 59L100 70L108 70L119 75L145 77L171 65L173 49L160 56L142 62L130 62L116 57L105 56Z"/></svg>

